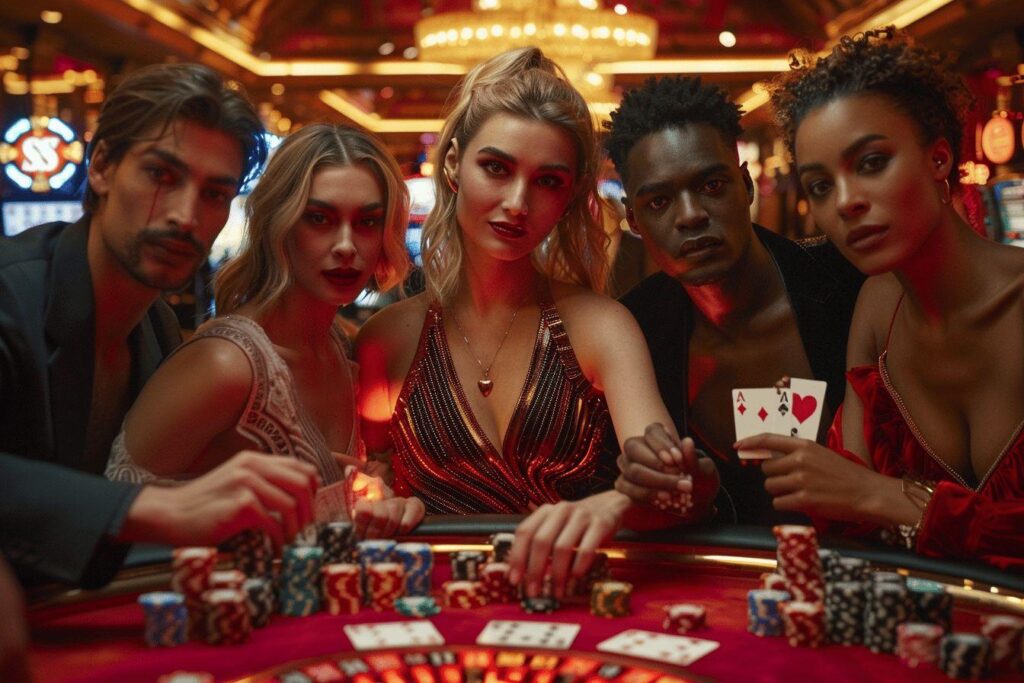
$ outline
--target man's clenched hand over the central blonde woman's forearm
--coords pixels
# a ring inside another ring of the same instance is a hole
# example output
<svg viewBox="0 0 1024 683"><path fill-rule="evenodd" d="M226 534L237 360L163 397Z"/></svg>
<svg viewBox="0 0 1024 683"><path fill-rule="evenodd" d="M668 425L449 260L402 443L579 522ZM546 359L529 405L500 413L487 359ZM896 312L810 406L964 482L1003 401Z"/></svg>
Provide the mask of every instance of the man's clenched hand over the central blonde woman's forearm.
<svg viewBox="0 0 1024 683"><path fill-rule="evenodd" d="M677 440L664 426L648 425L642 437L626 439L615 489L635 503L700 518L719 486L715 463L701 455L693 439ZM685 509L671 505L679 499L686 500Z"/></svg>

